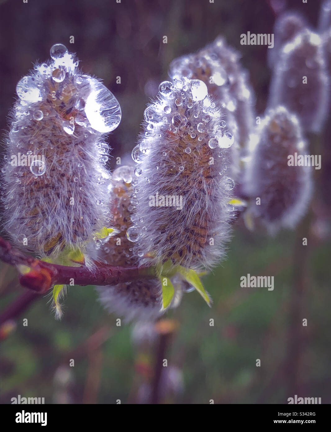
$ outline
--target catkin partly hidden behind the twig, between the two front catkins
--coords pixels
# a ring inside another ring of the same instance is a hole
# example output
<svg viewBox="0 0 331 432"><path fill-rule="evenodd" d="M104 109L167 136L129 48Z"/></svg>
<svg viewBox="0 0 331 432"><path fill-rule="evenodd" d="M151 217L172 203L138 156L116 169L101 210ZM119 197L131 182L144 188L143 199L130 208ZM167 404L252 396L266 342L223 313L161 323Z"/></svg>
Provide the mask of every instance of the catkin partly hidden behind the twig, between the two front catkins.
<svg viewBox="0 0 331 432"><path fill-rule="evenodd" d="M135 210L136 176L132 167L121 166L113 172L110 184L111 213L113 226L118 234L111 237L99 249L99 257L114 266L136 266L139 257L133 253L133 243L126 235L132 226L131 216ZM176 280L176 294L170 305L177 306L182 296L183 283ZM123 316L126 321L151 320L160 316L162 289L157 279L141 279L120 283L117 286L99 286L100 301L109 312Z"/></svg>

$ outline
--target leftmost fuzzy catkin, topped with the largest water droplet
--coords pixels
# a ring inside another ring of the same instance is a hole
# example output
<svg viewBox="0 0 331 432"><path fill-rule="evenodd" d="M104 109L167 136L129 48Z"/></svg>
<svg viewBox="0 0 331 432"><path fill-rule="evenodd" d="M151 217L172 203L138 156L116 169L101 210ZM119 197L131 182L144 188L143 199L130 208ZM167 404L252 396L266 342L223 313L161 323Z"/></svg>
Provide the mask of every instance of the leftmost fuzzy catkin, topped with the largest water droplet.
<svg viewBox="0 0 331 432"><path fill-rule="evenodd" d="M84 248L109 224L104 140L121 110L64 45L54 45L50 56L16 86L2 171L5 228L29 250L56 257L65 246ZM15 157L18 164L25 157L25 165L14 166Z"/></svg>

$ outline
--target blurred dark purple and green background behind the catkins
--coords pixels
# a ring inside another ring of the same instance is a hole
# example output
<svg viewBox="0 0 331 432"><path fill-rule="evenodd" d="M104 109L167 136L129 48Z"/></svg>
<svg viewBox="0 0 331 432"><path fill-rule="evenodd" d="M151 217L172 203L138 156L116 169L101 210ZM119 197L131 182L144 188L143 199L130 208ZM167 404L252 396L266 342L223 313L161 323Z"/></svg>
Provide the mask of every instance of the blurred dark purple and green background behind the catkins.
<svg viewBox="0 0 331 432"><path fill-rule="evenodd" d="M104 79L120 102L122 121L109 138L113 156L131 152L145 105L167 79L170 61L219 34L242 52L256 111L263 114L271 76L267 47L243 47L240 34L271 33L275 10L286 5L316 25L320 1L3 1L1 131L17 81L58 42L77 53L85 73ZM331 402L330 124L321 136L309 137L322 146L322 170L297 231L270 238L260 227L248 232L239 220L227 260L204 278L213 307L192 292L167 315L177 330L166 345L161 402L287 403L295 394ZM273 275L274 291L240 288L247 273ZM2 311L23 292L15 271L1 263ZM69 290L62 321L54 319L48 299L38 297L1 329L1 403L18 394L45 397L46 403L148 402L159 336L138 344L143 330L123 321L118 327L119 317L102 309L92 287Z"/></svg>

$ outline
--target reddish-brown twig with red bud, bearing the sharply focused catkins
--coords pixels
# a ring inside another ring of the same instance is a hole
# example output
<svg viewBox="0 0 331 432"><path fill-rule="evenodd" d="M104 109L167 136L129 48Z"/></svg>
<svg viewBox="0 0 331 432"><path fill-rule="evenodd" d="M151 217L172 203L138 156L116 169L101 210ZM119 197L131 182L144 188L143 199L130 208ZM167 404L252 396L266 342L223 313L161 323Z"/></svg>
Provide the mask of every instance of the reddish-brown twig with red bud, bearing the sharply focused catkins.
<svg viewBox="0 0 331 432"><path fill-rule="evenodd" d="M109 264L94 262L93 268L85 265L79 267L66 267L46 263L35 257L25 255L23 252L0 237L0 260L18 266L27 266L28 272L20 276L19 282L43 294L54 285L117 285L141 278L155 277L152 267L113 267Z"/></svg>

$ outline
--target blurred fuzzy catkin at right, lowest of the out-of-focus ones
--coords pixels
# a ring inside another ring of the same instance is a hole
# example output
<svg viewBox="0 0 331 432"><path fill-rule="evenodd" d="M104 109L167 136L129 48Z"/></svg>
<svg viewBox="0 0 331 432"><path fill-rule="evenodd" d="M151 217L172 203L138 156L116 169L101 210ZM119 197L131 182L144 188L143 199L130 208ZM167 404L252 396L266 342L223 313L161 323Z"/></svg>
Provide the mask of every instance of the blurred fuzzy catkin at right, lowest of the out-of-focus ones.
<svg viewBox="0 0 331 432"><path fill-rule="evenodd" d="M297 117L279 106L257 128L257 144L247 165L245 187L251 210L270 234L294 228L309 208L311 167L289 166L288 156L307 154ZM260 198L261 203L256 203Z"/></svg>

